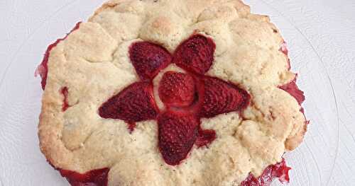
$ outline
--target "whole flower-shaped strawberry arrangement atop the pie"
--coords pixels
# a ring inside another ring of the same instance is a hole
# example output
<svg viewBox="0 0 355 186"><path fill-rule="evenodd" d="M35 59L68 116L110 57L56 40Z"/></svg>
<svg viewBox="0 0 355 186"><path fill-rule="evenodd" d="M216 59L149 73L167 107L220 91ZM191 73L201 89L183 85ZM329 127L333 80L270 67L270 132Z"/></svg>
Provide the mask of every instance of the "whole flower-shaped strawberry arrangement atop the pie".
<svg viewBox="0 0 355 186"><path fill-rule="evenodd" d="M202 129L201 118L241 112L250 95L234 83L205 75L214 62L216 45L204 35L192 35L170 54L152 42L134 42L129 48L131 63L140 81L127 86L99 107L103 118L124 120L133 132L136 122L156 120L158 149L169 165L180 164L192 147L207 146L218 136ZM153 95L153 79L169 64L185 73L167 71L158 85L165 109L159 110Z"/></svg>

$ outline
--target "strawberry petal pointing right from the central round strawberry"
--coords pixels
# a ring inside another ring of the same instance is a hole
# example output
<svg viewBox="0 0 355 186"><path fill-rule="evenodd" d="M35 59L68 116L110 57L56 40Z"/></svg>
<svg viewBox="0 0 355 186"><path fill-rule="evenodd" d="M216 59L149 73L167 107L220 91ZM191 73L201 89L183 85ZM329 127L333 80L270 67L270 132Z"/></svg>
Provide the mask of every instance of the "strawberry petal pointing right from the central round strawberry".
<svg viewBox="0 0 355 186"><path fill-rule="evenodd" d="M202 81L204 98L200 117L214 117L241 110L249 105L249 93L238 86L209 76L204 76Z"/></svg>

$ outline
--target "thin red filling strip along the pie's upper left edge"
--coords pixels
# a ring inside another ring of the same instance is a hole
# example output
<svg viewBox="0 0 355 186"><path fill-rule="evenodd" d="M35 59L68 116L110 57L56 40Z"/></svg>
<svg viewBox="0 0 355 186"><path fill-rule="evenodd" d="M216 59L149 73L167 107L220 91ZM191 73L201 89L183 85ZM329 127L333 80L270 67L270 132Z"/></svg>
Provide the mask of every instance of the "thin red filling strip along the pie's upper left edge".
<svg viewBox="0 0 355 186"><path fill-rule="evenodd" d="M74 32L77 29L79 29L80 28L80 23L82 23L82 22L77 23L75 25L75 27L70 31L70 33ZM58 43L60 43L62 40L65 40L65 38L67 38L67 36L70 35L70 33L65 35L65 37L63 37L62 39L58 39L53 44L48 46L47 50L45 51L45 55L43 57L42 63L40 63L40 65L37 67L37 69L35 71L35 76L37 76L39 74L40 78L42 79L42 81L40 83L42 85L42 89L43 90L45 89L45 85L47 83L48 59L49 59L50 51L53 50L53 48L55 46L57 46Z"/></svg>

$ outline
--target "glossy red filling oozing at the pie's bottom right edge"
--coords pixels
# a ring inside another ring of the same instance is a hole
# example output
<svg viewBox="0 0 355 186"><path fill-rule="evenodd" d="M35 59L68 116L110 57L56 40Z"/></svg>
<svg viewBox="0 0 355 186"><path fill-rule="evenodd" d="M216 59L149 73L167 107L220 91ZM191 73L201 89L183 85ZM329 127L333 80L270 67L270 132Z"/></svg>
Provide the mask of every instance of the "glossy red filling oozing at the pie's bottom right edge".
<svg viewBox="0 0 355 186"><path fill-rule="evenodd" d="M280 182L289 182L288 171L290 169L283 158L283 161L280 163L268 165L259 178L255 178L252 174L249 174L248 178L241 182L241 186L269 186L275 178L278 178Z"/></svg>

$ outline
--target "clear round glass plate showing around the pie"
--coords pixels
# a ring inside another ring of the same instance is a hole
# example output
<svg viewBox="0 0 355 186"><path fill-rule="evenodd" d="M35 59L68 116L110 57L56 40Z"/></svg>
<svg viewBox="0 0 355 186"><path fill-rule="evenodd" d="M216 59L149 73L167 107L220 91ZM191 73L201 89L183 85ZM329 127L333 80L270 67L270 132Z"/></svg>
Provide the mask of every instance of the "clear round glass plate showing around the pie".
<svg viewBox="0 0 355 186"><path fill-rule="evenodd" d="M6 0L6 2L9 2ZM18 1L22 2L22 1ZM40 79L34 78L48 44L62 37L76 22L85 20L102 0L31 1L36 11L53 9L52 13L35 14L31 35L21 41L11 61L0 70L0 185L68 185L53 170L38 149L37 124L40 113ZM290 50L293 71L305 91L305 113L311 120L305 142L285 155L290 171L290 185L327 185L334 170L339 141L339 121L332 84L322 59L312 42L302 35L273 3L247 1L253 12L271 16L280 28ZM1 6L1 3L0 3ZM56 7L55 7L56 6ZM54 7L54 8L53 8ZM26 13L21 14L26 17ZM19 18L21 18L19 16ZM21 22L21 21L19 21ZM22 27L26 28L26 27ZM28 28L29 29L29 28ZM0 45L6 51L4 45ZM1 66L2 67L2 66ZM279 185L276 181L274 185Z"/></svg>

